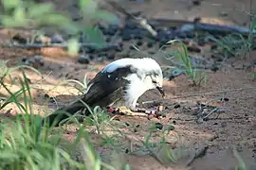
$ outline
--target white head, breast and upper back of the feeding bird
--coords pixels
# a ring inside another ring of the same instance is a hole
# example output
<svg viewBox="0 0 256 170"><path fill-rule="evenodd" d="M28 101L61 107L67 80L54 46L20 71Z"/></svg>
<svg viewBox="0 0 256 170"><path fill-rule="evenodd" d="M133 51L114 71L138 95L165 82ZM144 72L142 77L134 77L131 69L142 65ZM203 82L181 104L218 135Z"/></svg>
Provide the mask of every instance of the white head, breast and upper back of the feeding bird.
<svg viewBox="0 0 256 170"><path fill-rule="evenodd" d="M155 59L118 59L101 72L112 73L119 68L129 68L130 73L123 78L130 82L126 88L126 106L130 109L135 109L138 97L148 90L157 89L164 95L162 70Z"/></svg>

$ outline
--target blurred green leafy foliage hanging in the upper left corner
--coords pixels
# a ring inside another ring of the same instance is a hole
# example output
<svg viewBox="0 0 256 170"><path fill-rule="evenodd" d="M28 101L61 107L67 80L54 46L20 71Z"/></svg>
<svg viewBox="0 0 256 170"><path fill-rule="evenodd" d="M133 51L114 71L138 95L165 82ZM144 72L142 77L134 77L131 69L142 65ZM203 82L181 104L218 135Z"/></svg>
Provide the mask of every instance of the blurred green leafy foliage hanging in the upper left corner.
<svg viewBox="0 0 256 170"><path fill-rule="evenodd" d="M58 30L64 30L71 38L67 41L68 52L77 53L80 49L79 35L81 32L86 34L86 41L96 48L106 45L101 30L93 26L95 22L118 23L119 19L113 13L98 8L100 1L78 0L79 13L82 16L80 24L74 23L70 16L55 11L52 3L34 3L32 0L2 0L3 11L0 14L0 20L3 26L11 28L29 28L36 29L34 38L42 36L43 26L54 26ZM34 38L30 41L33 42Z"/></svg>

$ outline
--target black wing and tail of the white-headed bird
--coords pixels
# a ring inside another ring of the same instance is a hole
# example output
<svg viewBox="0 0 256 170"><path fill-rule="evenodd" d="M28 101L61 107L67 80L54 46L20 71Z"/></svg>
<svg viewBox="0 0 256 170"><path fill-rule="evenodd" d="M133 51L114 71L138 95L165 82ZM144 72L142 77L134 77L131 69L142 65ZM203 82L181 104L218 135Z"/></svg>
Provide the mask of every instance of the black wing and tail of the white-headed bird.
<svg viewBox="0 0 256 170"><path fill-rule="evenodd" d="M129 80L124 77L133 73L136 73L136 70L130 65L118 68L111 73L100 72L88 83L89 90L80 99L92 109L95 106L106 107L124 97L126 85L129 84ZM52 126L55 122L55 125L57 125L68 118L64 111L73 115L78 110L84 109L85 106L81 100L76 100L48 115L46 117L48 124Z"/></svg>

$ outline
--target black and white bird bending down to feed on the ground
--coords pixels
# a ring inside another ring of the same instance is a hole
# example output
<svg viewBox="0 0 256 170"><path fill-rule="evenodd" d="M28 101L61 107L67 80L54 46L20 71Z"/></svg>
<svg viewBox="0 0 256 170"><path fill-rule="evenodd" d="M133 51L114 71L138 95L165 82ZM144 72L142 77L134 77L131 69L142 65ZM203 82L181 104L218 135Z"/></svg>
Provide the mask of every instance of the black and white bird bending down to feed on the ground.
<svg viewBox="0 0 256 170"><path fill-rule="evenodd" d="M100 106L120 107L137 112L137 99L151 89L157 89L164 96L163 74L155 59L118 59L106 65L89 83L86 93L80 98L90 108ZM68 117L64 110L75 114L85 109L81 100L56 110L46 119L52 125Z"/></svg>

